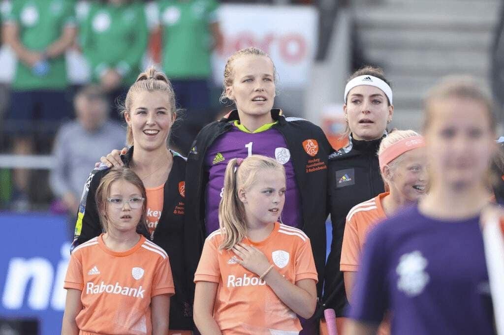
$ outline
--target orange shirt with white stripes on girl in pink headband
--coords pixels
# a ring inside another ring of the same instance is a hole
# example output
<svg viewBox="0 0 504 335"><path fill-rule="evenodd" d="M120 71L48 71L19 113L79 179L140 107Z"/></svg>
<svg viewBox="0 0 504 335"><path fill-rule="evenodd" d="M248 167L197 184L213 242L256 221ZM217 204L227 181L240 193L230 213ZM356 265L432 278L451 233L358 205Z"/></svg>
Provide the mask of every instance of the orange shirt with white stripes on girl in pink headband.
<svg viewBox="0 0 504 335"><path fill-rule="evenodd" d="M380 193L354 206L348 212L341 248L340 271L357 271L369 230L387 217L382 207L382 199L388 194L389 192Z"/></svg>

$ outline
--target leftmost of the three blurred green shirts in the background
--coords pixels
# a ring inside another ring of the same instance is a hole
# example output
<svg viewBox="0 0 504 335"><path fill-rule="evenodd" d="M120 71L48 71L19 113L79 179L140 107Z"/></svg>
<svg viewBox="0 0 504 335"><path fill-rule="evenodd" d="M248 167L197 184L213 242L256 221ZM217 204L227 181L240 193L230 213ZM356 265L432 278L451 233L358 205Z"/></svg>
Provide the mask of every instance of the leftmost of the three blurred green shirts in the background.
<svg viewBox="0 0 504 335"><path fill-rule="evenodd" d="M74 0L14 0L4 14L5 23L19 27L19 39L29 50L44 51L58 40L67 25L74 26ZM62 90L68 85L65 54L49 59L46 76L32 74L32 69L18 61L12 88L14 90Z"/></svg>

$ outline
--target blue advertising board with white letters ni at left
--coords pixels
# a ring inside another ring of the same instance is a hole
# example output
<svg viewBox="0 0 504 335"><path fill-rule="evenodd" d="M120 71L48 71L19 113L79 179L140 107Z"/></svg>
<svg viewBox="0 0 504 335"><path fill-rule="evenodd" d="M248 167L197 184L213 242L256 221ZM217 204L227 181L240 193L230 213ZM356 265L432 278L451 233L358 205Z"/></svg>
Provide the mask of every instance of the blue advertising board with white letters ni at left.
<svg viewBox="0 0 504 335"><path fill-rule="evenodd" d="M61 333L70 258L65 216L0 213L0 319L35 319L39 333ZM31 334L30 334L31 335Z"/></svg>

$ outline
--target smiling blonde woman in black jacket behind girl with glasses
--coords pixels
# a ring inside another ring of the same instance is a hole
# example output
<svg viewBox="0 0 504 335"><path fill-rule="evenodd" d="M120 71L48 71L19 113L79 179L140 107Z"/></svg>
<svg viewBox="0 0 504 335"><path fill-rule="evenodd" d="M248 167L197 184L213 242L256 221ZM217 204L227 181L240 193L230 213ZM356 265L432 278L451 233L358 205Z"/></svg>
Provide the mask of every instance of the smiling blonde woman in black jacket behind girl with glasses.
<svg viewBox="0 0 504 335"><path fill-rule="evenodd" d="M128 91L123 115L128 124L127 142L131 147L116 162L116 167L130 167L146 186L148 227L142 233L170 256L177 292L171 298L170 329L175 333L190 334L193 322L191 302L185 290L188 279L184 277L182 246L185 159L167 148L176 110L175 95L166 76L154 68L142 73ZM95 191L109 171L106 165L102 165L88 178L79 207L74 248L102 232Z"/></svg>

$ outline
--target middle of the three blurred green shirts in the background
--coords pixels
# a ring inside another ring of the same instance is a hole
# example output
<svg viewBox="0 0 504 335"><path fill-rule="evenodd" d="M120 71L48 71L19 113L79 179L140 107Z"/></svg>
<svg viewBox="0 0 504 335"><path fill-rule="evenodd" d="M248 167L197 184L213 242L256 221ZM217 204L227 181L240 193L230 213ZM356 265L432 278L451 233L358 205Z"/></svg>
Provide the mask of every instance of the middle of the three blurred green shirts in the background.
<svg viewBox="0 0 504 335"><path fill-rule="evenodd" d="M141 69L149 39L145 6L132 2L121 6L93 2L81 22L80 41L92 79L98 82L108 69L115 69L124 85L131 85Z"/></svg>

